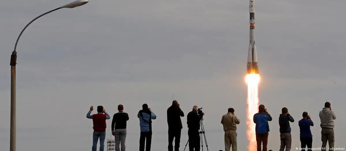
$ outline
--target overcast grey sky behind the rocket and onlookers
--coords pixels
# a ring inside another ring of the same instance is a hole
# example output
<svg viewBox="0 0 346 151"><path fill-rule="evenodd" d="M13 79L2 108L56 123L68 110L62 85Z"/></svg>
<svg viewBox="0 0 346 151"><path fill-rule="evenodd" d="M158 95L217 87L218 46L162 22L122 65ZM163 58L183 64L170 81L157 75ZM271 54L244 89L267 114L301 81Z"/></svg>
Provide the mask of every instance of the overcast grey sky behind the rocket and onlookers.
<svg viewBox="0 0 346 151"><path fill-rule="evenodd" d="M9 150L9 62L16 38L31 19L69 2L0 4L0 150ZM312 147L321 147L318 113L326 100L337 115L335 147L346 147L345 4L255 1L259 98L273 117L268 149L280 148L283 107L295 119L292 150L300 147L304 111L315 122ZM220 121L234 108L238 150L247 150L248 7L247 0L90 0L36 20L17 47L17 150L91 150L92 120L85 117L90 106L103 105L112 117L118 104L130 118L127 150L138 150L143 103L157 115L152 151L166 150L172 93L185 114L193 105L203 108L210 151L225 149ZM188 141L186 117L182 122L180 150ZM107 139L110 125L107 120Z"/></svg>

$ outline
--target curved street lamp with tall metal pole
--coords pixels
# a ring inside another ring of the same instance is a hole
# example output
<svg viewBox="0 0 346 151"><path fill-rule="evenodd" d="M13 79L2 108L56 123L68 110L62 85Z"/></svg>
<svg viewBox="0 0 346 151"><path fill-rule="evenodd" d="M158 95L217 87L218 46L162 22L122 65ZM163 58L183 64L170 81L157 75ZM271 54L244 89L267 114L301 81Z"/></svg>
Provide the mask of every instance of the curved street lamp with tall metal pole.
<svg viewBox="0 0 346 151"><path fill-rule="evenodd" d="M10 151L16 151L16 64L17 64L17 44L19 41L19 38L21 34L24 32L24 30L34 22L36 19L44 16L45 14L51 13L53 11L56 11L58 9L62 8L75 8L82 6L86 3L88 3L89 0L76 0L74 2L68 3L64 6L61 6L59 8L53 9L51 11L45 12L42 15L34 18L31 20L25 27L24 29L20 32L16 44L15 44L15 49L12 52L11 55L11 61L10 61L10 66L11 66L11 128L10 128Z"/></svg>

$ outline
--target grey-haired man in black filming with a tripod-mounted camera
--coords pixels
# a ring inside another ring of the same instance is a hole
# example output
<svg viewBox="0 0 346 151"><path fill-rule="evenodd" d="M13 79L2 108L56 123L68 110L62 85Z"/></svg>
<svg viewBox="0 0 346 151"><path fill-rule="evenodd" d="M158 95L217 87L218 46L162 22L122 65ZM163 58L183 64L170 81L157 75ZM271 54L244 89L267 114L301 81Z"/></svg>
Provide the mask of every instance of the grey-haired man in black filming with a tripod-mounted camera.
<svg viewBox="0 0 346 151"><path fill-rule="evenodd" d="M199 129L203 115L204 113L198 108L198 106L193 106L192 111L187 115L187 124L189 128L189 151L200 151Z"/></svg>

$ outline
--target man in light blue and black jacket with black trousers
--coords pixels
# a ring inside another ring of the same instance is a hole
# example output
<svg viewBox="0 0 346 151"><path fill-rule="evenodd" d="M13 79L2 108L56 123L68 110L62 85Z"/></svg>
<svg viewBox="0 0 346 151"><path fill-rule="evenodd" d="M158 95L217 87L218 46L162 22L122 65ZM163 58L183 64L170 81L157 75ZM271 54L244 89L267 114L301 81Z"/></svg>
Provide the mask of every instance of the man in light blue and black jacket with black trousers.
<svg viewBox="0 0 346 151"><path fill-rule="evenodd" d="M156 119L156 115L148 108L148 104L142 105L142 110L137 114L140 126L139 151L150 151L152 139L152 120ZM146 144L145 140L147 141Z"/></svg>

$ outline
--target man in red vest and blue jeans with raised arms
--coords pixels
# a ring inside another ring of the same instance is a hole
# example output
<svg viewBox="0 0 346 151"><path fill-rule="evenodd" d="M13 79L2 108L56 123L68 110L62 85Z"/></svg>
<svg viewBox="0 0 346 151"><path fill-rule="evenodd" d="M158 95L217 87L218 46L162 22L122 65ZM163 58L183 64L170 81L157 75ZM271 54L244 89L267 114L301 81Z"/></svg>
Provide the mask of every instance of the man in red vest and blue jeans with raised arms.
<svg viewBox="0 0 346 151"><path fill-rule="evenodd" d="M104 139L106 139L106 119L110 119L109 114L102 106L97 107L97 114L91 114L94 107L90 107L90 111L86 114L86 118L92 119L94 132L92 134L92 151L96 151L97 141L100 138L100 151L104 150Z"/></svg>

